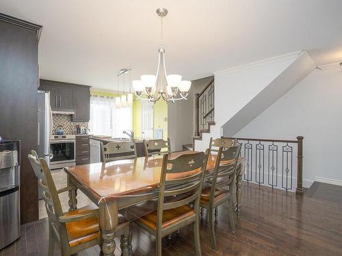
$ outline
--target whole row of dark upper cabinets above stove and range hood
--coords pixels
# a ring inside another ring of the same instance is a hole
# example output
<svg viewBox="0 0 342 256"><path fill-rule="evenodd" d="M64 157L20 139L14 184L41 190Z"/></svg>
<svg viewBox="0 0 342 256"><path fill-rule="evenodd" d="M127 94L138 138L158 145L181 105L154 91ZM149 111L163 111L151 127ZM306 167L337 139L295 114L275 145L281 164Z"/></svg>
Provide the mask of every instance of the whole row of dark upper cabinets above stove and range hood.
<svg viewBox="0 0 342 256"><path fill-rule="evenodd" d="M50 91L52 111L73 111L73 122L89 122L90 86L40 79L39 89Z"/></svg>

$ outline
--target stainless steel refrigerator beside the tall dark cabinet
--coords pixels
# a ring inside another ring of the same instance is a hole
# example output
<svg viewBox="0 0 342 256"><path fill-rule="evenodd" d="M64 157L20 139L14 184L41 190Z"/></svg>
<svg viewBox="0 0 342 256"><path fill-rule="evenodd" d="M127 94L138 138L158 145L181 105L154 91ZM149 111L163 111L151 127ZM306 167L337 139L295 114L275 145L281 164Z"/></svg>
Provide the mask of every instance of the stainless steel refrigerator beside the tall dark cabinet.
<svg viewBox="0 0 342 256"><path fill-rule="evenodd" d="M52 112L50 92L38 91L38 156L45 158L50 166L50 136L52 133ZM42 193L39 191L39 199Z"/></svg>

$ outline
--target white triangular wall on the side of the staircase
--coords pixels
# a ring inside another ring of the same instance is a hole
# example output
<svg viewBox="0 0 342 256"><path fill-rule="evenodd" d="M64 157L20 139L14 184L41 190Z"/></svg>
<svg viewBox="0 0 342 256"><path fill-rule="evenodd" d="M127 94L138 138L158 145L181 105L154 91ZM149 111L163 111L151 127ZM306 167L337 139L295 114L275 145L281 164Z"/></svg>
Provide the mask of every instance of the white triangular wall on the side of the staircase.
<svg viewBox="0 0 342 256"><path fill-rule="evenodd" d="M220 137L221 126L274 81L299 54L291 53L215 73L215 126L211 126L210 133L202 134L202 141L195 142L195 149L205 151L210 137Z"/></svg>

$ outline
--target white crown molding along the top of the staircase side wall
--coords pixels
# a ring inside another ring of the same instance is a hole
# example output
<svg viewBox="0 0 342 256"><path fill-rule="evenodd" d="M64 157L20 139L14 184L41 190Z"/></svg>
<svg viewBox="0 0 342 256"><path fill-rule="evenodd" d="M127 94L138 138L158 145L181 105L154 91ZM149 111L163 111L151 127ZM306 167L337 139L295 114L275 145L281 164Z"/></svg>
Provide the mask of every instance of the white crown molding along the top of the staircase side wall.
<svg viewBox="0 0 342 256"><path fill-rule="evenodd" d="M306 51L295 51L295 52L292 52L292 53L286 53L286 54L278 55L278 56L271 57L271 58L268 58L268 59L262 59L261 61L254 61L254 62L247 63L247 64L244 64L244 65L241 65L241 66L235 66L235 67L232 67L232 68L226 68L225 70L220 70L218 72L213 72L213 74L217 75L217 74L222 74L222 73L231 73L231 72L237 72L237 71L241 71L241 70L247 70L247 69L250 69L250 68L256 68L258 66L268 65L270 63L274 63L274 62L277 62L277 61L280 61L280 60L290 59L290 58L293 58L293 57L298 57L298 56L300 56L303 53L306 53Z"/></svg>

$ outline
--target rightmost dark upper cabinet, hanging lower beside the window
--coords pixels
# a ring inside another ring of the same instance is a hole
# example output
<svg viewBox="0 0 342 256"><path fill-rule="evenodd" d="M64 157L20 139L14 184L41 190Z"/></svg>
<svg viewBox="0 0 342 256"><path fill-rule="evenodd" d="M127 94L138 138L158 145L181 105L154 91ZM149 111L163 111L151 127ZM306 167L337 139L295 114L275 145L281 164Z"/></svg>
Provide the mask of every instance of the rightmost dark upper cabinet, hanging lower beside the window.
<svg viewBox="0 0 342 256"><path fill-rule="evenodd" d="M90 119L90 87L76 86L73 88L73 103L75 114L73 122L89 122Z"/></svg>

